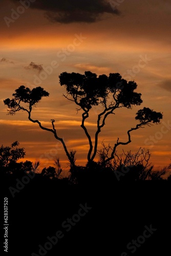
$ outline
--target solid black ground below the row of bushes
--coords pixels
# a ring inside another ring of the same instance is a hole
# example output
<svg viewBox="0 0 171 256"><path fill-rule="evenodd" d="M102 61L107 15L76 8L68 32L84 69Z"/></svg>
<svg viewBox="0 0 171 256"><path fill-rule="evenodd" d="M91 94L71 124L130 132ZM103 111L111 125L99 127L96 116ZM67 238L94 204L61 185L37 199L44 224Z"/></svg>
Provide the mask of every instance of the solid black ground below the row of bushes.
<svg viewBox="0 0 171 256"><path fill-rule="evenodd" d="M69 185L62 180L35 177L13 198L9 187L15 185L15 179L1 179L2 204L7 197L9 211L8 253L4 255L171 254L168 181ZM80 204L92 208L67 231L62 223L77 218L74 215L78 214ZM157 230L139 248L134 247L135 252L133 247L126 248L133 239L142 236L145 226ZM47 237L55 236L58 230L63 237L47 253L40 254L38 246L44 247L49 242Z"/></svg>

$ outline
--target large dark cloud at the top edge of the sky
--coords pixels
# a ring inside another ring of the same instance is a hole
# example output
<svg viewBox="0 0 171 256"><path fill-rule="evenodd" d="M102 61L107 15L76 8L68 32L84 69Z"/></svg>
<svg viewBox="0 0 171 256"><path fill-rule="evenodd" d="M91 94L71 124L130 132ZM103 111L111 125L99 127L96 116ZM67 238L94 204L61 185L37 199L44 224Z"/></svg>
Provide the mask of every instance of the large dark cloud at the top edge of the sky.
<svg viewBox="0 0 171 256"><path fill-rule="evenodd" d="M19 2L18 0L12 0ZM112 1L111 1L112 2ZM119 14L108 0L36 0L30 8L44 10L51 22L58 23L93 23L104 13Z"/></svg>

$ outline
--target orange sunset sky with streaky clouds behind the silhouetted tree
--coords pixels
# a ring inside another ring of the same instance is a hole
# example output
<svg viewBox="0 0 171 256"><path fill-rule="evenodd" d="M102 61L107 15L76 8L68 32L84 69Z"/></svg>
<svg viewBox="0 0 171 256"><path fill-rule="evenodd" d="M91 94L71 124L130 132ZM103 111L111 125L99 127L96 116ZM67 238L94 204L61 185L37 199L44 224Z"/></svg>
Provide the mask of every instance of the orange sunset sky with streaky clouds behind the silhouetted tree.
<svg viewBox="0 0 171 256"><path fill-rule="evenodd" d="M23 5L22 5L23 3ZM43 98L33 117L51 128L51 119L68 150L76 150L77 164L85 164L88 140L80 127L81 112L62 94L62 72L97 75L120 73L135 80L143 103L132 110L119 109L106 120L99 136L114 146L117 138L127 141L127 130L136 125L135 114L144 106L163 113L162 123L132 132L132 142L119 146L136 153L149 149L151 162L163 167L171 159L171 2L169 0L2 0L0 3L0 141L10 145L18 140L25 147L25 160L52 165L57 155L67 169L67 157L53 134L39 129L27 113L7 115L3 103L24 85L43 87ZM19 14L17 14L19 12ZM93 108L87 127L93 136L99 108Z"/></svg>

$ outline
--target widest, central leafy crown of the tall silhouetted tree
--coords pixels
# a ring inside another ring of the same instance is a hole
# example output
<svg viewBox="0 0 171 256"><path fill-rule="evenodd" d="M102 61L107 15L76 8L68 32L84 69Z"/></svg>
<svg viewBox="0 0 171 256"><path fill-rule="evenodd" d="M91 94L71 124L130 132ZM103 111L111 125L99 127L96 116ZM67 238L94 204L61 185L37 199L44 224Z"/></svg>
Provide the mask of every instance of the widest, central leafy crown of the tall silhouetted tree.
<svg viewBox="0 0 171 256"><path fill-rule="evenodd" d="M109 94L113 93L115 103L111 107L119 105L125 108L131 108L132 105L142 103L141 94L134 92L137 89L137 83L134 81L127 82L122 79L119 73L110 73L106 75L97 75L86 71L84 75L79 73L63 72L59 76L61 86L66 87L67 96L72 96L77 105L82 110L89 111L93 105L102 104L106 106Z"/></svg>

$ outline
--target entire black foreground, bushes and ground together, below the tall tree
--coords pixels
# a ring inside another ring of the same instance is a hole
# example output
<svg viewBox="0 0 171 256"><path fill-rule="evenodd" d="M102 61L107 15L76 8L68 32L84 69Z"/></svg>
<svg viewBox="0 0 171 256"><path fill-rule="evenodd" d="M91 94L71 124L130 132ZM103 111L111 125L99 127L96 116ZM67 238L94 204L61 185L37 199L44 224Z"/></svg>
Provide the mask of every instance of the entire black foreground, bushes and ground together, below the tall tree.
<svg viewBox="0 0 171 256"><path fill-rule="evenodd" d="M148 151L123 152L106 166L102 150L98 162L72 167L65 177L58 158L55 167L40 169L39 161L17 162L25 156L17 141L0 150L1 186L9 200L8 255L130 255L127 244L145 226L156 231L138 243L134 255L166 255L170 175L163 176L170 166L153 171ZM78 216L80 205L91 208L83 217ZM53 245L48 238L58 230L63 237ZM47 242L51 249L45 249Z"/></svg>

